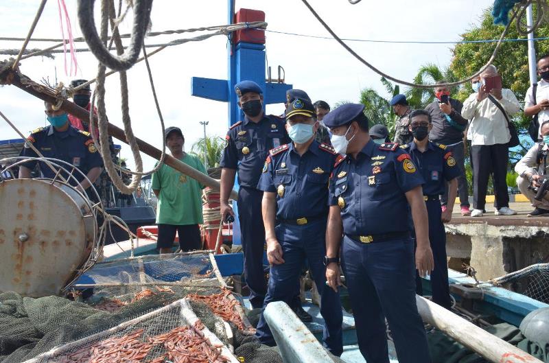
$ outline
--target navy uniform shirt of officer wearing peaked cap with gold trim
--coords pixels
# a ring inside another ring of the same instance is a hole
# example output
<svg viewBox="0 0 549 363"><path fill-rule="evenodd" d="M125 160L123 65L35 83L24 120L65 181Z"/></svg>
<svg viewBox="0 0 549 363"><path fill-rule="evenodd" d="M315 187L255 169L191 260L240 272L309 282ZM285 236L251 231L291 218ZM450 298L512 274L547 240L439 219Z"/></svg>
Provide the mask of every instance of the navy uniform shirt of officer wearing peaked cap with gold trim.
<svg viewBox="0 0 549 363"><path fill-rule="evenodd" d="M257 189L277 193L277 220L327 215L328 179L336 152L313 141L302 155L293 143L271 150Z"/></svg>

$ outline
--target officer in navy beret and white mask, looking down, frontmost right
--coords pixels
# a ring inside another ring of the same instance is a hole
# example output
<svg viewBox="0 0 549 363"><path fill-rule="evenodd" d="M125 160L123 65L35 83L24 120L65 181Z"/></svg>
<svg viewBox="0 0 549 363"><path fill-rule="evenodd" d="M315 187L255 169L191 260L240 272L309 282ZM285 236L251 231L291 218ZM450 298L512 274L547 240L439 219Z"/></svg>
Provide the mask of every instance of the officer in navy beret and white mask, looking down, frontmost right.
<svg viewBox="0 0 549 363"><path fill-rule="evenodd" d="M324 118L334 149L347 154L338 157L329 183L327 283L338 289L341 260L358 347L367 362L389 362L387 318L399 362L429 363L415 300L414 242L408 223L411 209L417 235L415 267L424 276L433 269L433 257L423 178L398 144L371 140L363 110L360 104L344 104Z"/></svg>

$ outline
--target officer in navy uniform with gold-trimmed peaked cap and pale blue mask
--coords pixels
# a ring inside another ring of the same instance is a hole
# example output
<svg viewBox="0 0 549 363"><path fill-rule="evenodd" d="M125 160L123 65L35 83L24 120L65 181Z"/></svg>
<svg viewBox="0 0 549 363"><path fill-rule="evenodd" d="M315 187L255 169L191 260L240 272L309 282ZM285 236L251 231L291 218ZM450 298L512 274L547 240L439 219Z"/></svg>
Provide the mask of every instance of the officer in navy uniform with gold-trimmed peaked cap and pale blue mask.
<svg viewBox="0 0 549 363"><path fill-rule="evenodd" d="M326 285L323 257L328 215L328 179L336 152L318 143L318 121L309 99L294 99L286 109L286 130L293 143L270 150L258 188L263 194L263 220L270 277L264 306L272 301L292 303L301 268L309 270L320 292L320 314L325 320L323 341L334 355L341 355L342 311L339 294ZM275 227L276 222L279 224ZM257 324L259 340L274 345L263 314Z"/></svg>

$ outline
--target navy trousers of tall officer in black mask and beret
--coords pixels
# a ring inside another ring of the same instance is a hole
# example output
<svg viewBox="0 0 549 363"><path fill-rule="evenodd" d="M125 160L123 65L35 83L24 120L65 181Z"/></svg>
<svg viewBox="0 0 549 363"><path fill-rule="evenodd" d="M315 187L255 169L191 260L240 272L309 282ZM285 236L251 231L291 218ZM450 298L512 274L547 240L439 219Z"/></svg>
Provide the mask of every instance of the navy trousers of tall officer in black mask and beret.
<svg viewBox="0 0 549 363"><path fill-rule="evenodd" d="M244 251L244 279L250 289L250 303L254 309L263 306L267 292L263 272L265 227L261 215L261 199L261 190L247 187L240 187L238 190L237 207Z"/></svg>

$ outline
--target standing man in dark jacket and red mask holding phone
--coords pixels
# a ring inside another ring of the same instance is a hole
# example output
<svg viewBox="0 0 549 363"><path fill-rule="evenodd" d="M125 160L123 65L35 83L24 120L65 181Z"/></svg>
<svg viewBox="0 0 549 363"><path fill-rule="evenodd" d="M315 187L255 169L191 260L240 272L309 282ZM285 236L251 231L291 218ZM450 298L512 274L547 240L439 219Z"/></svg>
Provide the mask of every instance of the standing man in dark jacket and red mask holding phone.
<svg viewBox="0 0 549 363"><path fill-rule="evenodd" d="M445 80L438 84L447 83ZM438 144L441 148L452 152L460 174L458 176L458 196L461 207L461 215L470 215L469 193L467 191L467 177L465 176L465 146L463 145L463 132L467 129L467 119L461 115L463 104L458 99L450 97L447 86L434 88L436 99L425 107L432 119L432 129L429 132L429 140ZM445 184L441 195L442 211L445 212L448 204L448 185ZM452 204L454 204L452 202Z"/></svg>

